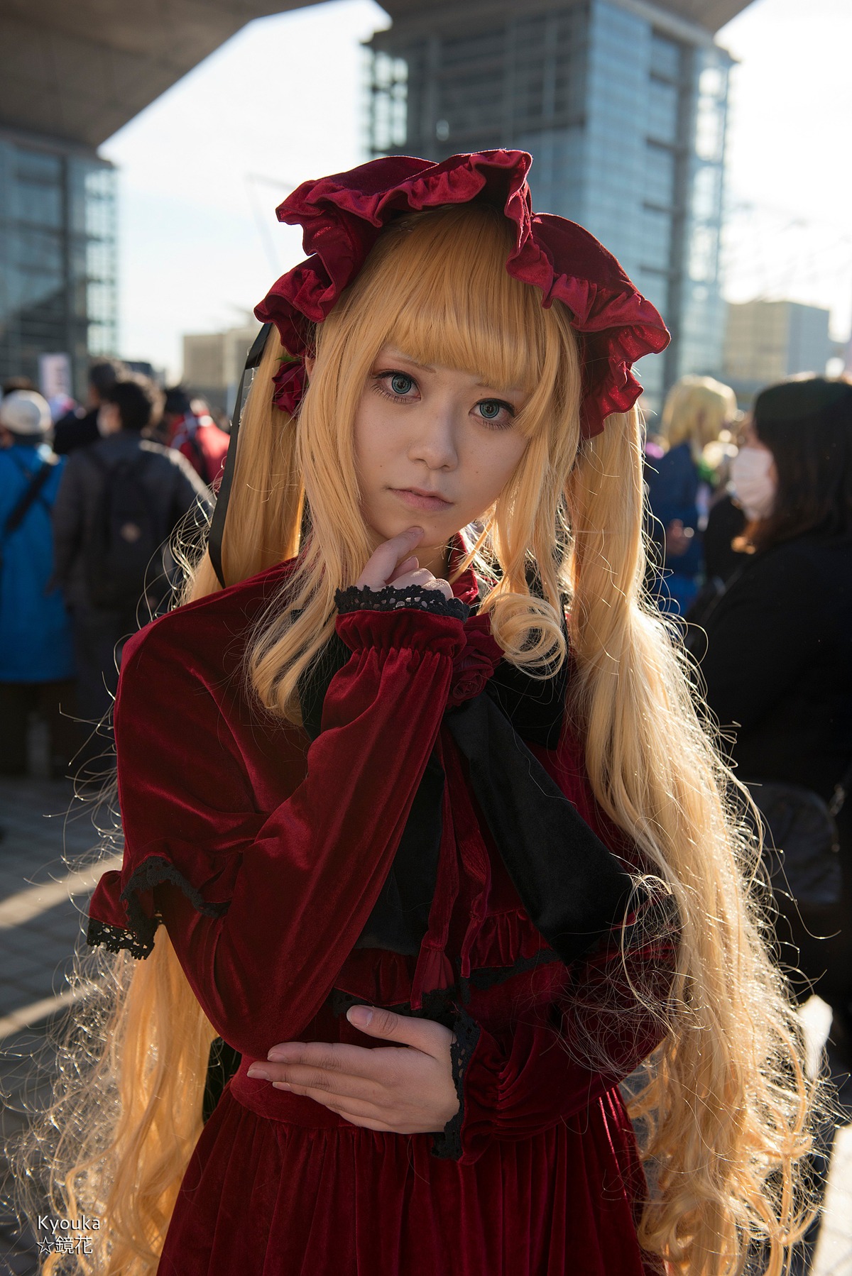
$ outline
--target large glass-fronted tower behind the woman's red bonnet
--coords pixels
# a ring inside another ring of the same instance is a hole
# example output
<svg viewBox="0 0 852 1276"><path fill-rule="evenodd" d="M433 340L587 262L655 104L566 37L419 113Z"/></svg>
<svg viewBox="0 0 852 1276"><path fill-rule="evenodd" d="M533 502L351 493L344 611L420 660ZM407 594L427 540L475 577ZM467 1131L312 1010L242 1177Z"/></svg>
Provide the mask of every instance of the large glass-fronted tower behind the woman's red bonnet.
<svg viewBox="0 0 852 1276"><path fill-rule="evenodd" d="M372 153L531 152L536 211L597 235L672 332L639 365L644 407L718 373L729 55L634 0L425 8L368 46Z"/></svg>

